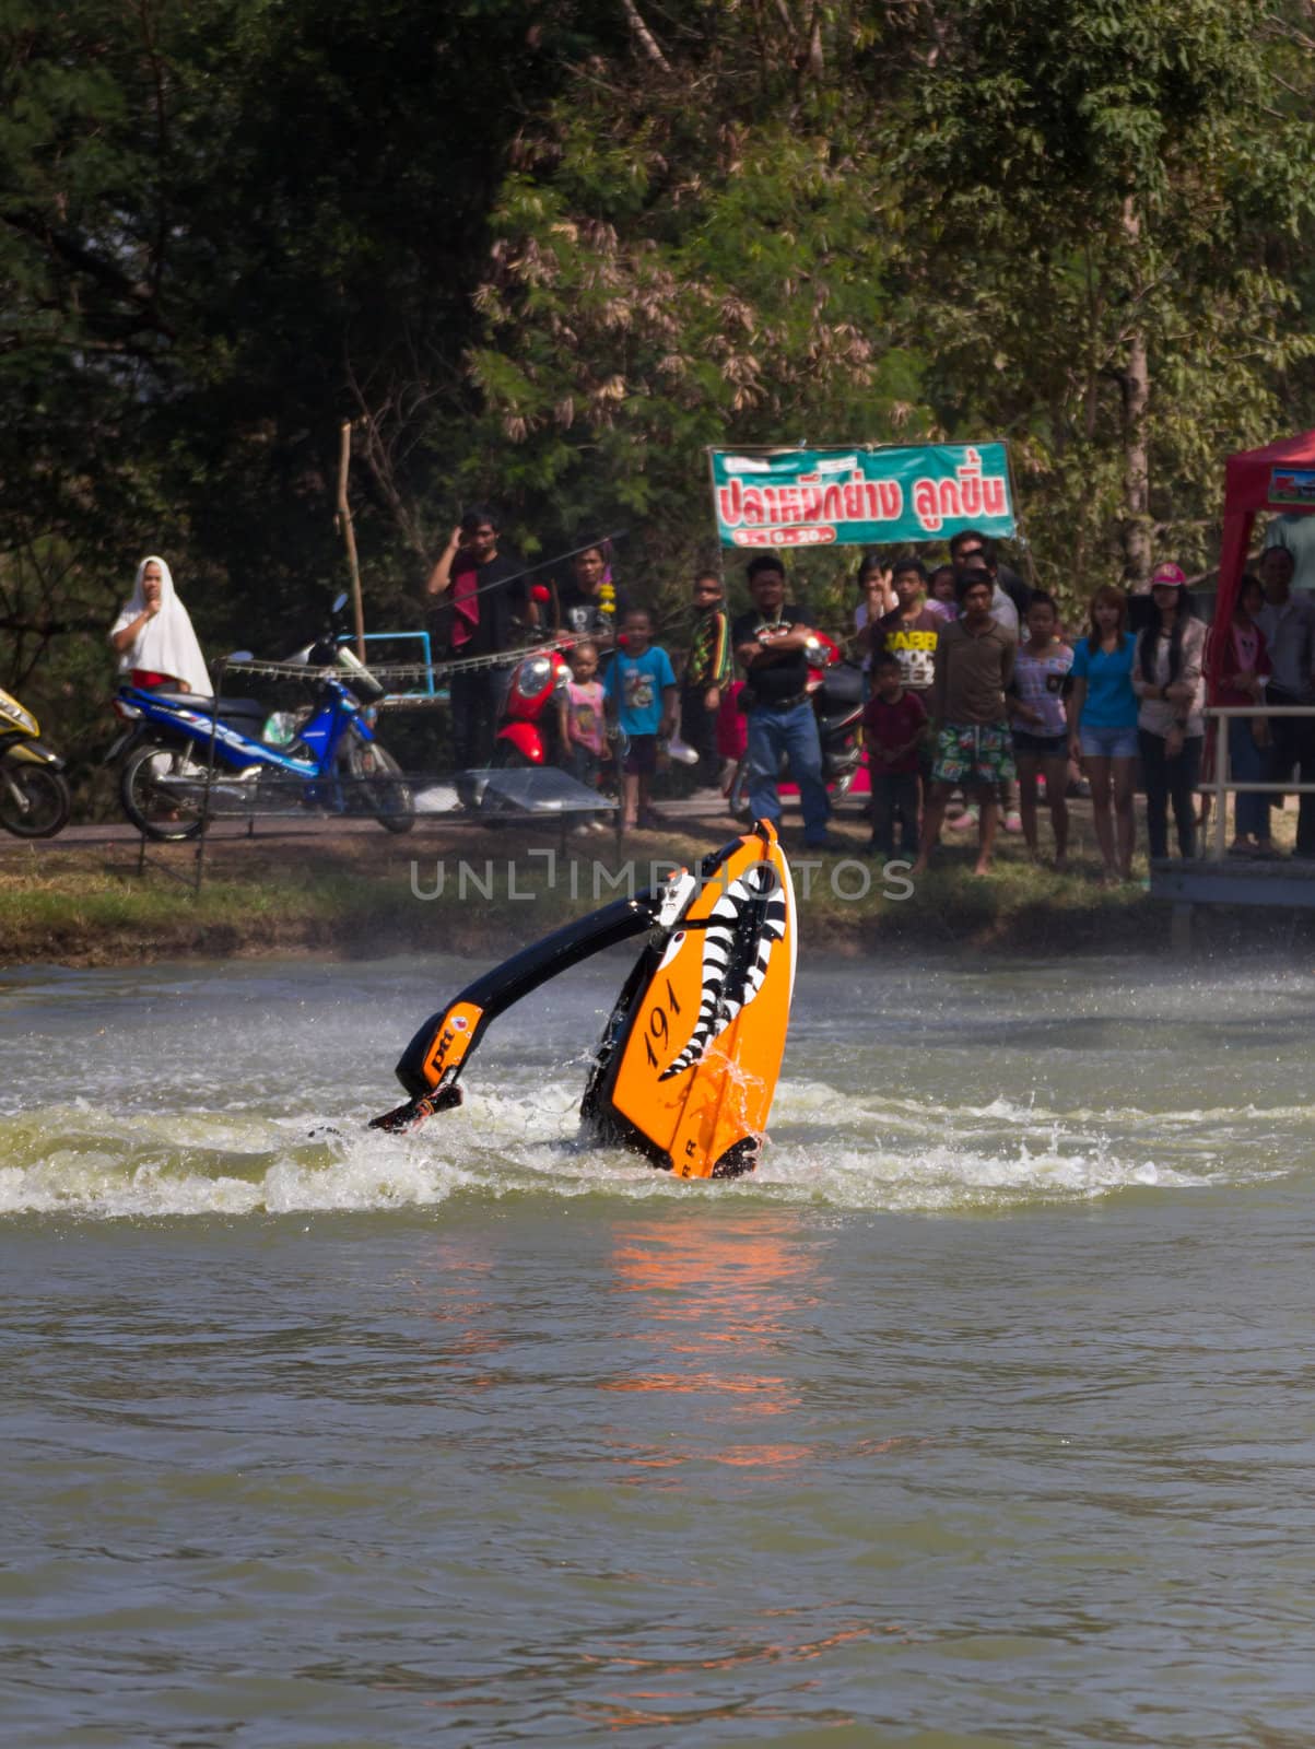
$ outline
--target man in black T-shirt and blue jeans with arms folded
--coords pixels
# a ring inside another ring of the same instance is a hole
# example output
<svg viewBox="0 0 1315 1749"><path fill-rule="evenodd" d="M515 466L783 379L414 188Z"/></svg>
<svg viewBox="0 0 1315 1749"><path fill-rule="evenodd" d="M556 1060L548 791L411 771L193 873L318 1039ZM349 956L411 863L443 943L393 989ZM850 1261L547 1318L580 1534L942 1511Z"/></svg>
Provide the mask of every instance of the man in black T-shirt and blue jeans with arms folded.
<svg viewBox="0 0 1315 1749"><path fill-rule="evenodd" d="M780 829L776 778L782 757L789 757L790 777L799 785L804 843L811 850L831 850L831 801L822 782L822 742L804 691L806 644L813 633L799 609L785 605L785 572L778 558L762 553L750 560L748 593L754 596L754 610L740 614L731 626L731 644L745 670L748 698L748 805L755 820L771 820Z"/></svg>

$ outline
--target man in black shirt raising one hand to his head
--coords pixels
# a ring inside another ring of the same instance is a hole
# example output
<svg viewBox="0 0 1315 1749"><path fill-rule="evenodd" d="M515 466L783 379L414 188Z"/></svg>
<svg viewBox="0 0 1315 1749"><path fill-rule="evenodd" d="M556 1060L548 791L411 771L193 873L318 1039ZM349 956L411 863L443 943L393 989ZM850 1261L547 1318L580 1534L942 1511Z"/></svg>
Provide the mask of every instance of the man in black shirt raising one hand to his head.
<svg viewBox="0 0 1315 1749"><path fill-rule="evenodd" d="M519 563L498 553L491 511L467 511L428 575L425 595L442 603L453 659L498 656L511 649L523 624L539 623ZM490 663L451 677L453 752L456 768L486 766L493 757L505 666Z"/></svg>

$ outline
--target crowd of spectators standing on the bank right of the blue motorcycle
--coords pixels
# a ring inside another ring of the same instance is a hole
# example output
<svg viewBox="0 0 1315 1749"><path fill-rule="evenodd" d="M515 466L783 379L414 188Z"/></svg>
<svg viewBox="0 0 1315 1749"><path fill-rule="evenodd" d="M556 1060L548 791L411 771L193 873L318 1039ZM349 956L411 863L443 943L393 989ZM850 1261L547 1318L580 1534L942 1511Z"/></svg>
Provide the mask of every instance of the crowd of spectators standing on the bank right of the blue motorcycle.
<svg viewBox="0 0 1315 1749"><path fill-rule="evenodd" d="M1294 589L1298 567L1315 584L1315 518L1275 518L1219 633L1219 703L1257 707L1228 722L1242 782L1315 778L1315 719L1264 715L1266 703L1315 703L1315 598ZM675 659L649 612L617 595L605 544L577 551L565 582L532 584L530 575L500 553L497 518L483 509L463 518L430 574L442 647L453 658L507 656L500 668L453 675L458 764L490 759L516 645L551 631L574 640L556 708L558 759L589 787L616 775L623 824L658 824L651 785L671 743L698 756L699 787L726 787L724 724L736 696L750 812L780 824L789 766L804 843L831 845L810 687L817 630L790 602L778 554L748 561L752 605L736 617L719 572L696 574ZM1168 855L1170 817L1179 854L1196 855L1207 626L1179 565L1159 565L1140 591L1098 588L1081 621L1065 624L1060 603L1028 588L993 540L962 530L930 570L916 553L866 554L841 640L864 673L873 854L904 855L916 873L946 827L976 827L976 871L986 874L1004 826L1040 861L1044 806L1049 855L1065 869L1067 798L1089 787L1102 878L1124 881L1140 777L1149 855ZM1270 815L1270 796L1236 798L1235 854L1277 854ZM1299 803L1296 855L1315 857L1315 796Z"/></svg>

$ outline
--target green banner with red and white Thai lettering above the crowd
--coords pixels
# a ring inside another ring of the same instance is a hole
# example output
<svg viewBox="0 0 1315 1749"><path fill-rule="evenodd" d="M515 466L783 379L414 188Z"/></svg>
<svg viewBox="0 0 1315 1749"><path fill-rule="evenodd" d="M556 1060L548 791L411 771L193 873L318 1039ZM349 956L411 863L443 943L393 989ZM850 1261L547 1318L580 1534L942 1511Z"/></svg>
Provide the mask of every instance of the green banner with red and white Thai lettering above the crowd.
<svg viewBox="0 0 1315 1749"><path fill-rule="evenodd" d="M1014 532L1002 442L710 449L722 546L892 546Z"/></svg>

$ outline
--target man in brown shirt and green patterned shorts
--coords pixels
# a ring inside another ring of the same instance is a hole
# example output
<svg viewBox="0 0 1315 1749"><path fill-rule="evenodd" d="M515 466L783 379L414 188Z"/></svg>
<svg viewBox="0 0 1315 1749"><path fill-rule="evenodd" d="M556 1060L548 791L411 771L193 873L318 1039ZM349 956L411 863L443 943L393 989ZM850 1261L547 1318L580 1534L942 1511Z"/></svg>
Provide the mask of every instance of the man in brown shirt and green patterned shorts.
<svg viewBox="0 0 1315 1749"><path fill-rule="evenodd" d="M1014 679L1018 652L1018 638L991 617L991 579L974 572L960 596L960 617L941 630L936 645L936 763L915 874L927 868L957 785L978 794L978 866L972 873L988 874L991 868L997 787L1014 775L1004 694Z"/></svg>

